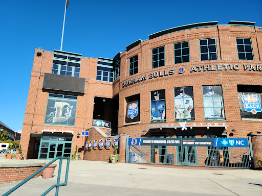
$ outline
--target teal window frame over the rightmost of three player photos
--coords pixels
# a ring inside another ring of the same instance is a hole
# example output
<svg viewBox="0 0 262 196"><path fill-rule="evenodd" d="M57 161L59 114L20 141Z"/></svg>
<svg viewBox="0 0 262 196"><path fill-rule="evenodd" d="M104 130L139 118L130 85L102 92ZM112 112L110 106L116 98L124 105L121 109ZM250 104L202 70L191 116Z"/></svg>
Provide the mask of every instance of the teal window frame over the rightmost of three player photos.
<svg viewBox="0 0 262 196"><path fill-rule="evenodd" d="M212 89L213 89L214 86L220 86L221 87L222 95L221 96L213 96L212 95L212 103L214 103L214 98L213 97L222 97L222 105L223 106L221 106L221 107L214 107L214 104L212 104L213 105L212 107L205 107L204 97L208 97L208 96L204 96L204 87L207 87L207 86L211 86ZM202 97L203 97L203 108L204 108L205 121L226 121L225 105L224 105L224 96L223 96L222 85L202 85ZM214 117L206 117L205 108L213 108L214 114L215 114L215 108L221 108L221 115L223 115L223 113L224 113L224 117L215 117L215 116Z"/></svg>

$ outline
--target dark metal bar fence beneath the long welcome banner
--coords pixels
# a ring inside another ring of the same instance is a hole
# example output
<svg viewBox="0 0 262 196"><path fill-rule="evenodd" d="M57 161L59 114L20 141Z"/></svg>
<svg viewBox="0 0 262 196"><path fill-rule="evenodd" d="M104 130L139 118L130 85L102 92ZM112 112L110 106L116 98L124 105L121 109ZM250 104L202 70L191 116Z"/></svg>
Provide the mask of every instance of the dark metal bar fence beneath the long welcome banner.
<svg viewBox="0 0 262 196"><path fill-rule="evenodd" d="M167 138L167 137L147 137ZM180 140L194 135L176 136ZM212 137L209 137L212 138ZM182 143L182 142L181 142ZM128 145L128 163L198 165L212 167L250 168L249 147L213 147L192 145Z"/></svg>

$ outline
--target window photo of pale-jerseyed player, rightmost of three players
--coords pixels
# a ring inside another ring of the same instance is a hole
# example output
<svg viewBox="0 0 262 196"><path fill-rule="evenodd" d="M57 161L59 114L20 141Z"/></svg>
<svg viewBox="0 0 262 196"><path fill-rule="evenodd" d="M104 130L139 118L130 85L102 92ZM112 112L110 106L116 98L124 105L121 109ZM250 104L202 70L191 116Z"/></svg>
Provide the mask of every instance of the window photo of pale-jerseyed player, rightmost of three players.
<svg viewBox="0 0 262 196"><path fill-rule="evenodd" d="M203 94L205 118L225 118L222 87L203 86Z"/></svg>

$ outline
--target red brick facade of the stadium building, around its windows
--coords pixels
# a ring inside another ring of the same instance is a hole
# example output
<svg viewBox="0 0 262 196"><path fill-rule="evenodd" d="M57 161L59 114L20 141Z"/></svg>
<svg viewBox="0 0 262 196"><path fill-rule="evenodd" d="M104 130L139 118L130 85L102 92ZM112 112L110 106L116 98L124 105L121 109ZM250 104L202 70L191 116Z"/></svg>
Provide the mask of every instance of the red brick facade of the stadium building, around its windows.
<svg viewBox="0 0 262 196"><path fill-rule="evenodd" d="M235 38L251 38L254 54L254 61L238 60ZM200 61L199 40L205 38L216 38L217 60ZM189 41L190 62L174 64L173 43ZM165 66L154 68L151 67L151 50L159 46L165 46ZM139 58L139 73L129 76L129 58L138 55ZM84 146L86 138L78 137L82 130L92 127L94 97L108 97L119 94L119 115L118 115L118 133L130 134L131 137L140 137L148 134L147 128L150 124L150 91L165 89L166 92L166 122L173 123L174 115L174 94L173 88L193 86L194 95L194 111L195 122L205 123L202 85L222 85L226 125L228 125L227 133L233 128L232 137L247 137L247 134L252 131L262 130L262 121L242 121L239 111L237 85L262 85L261 72L243 70L243 64L260 65L260 57L262 56L262 29L251 27L232 27L232 26L217 26L199 29L190 29L185 31L169 33L154 39L148 39L141 42L129 51L124 51L121 57L120 77L113 84L107 82L96 81L97 59L82 57L80 77L85 78L85 92L79 94L77 101L77 112L74 127L63 126L46 126L44 125L45 113L48 100L48 92L42 91L42 82L45 72L50 73L52 69L53 52L43 51L42 56L37 57L35 52L33 69L31 72L31 82L28 94L23 131L21 134L21 144L24 157L27 156L31 133L41 133L43 128L56 130L72 130L74 131L72 152L75 146ZM198 65L214 65L217 64L238 64L239 70L223 70L223 71L201 71L192 72L192 66ZM180 67L185 68L184 74L178 74ZM175 74L161 78L148 79L148 74L156 71L164 71L174 69ZM122 83L137 77L146 75L146 81L122 87ZM140 94L140 124L125 125L125 97ZM146 132L143 132L143 131ZM176 134L176 130L163 130L171 133L171 136ZM163 132L162 131L162 132ZM177 130L178 131L178 130ZM190 131L190 130L187 130ZM187 132L185 131L185 132ZM205 130L204 133L200 129L193 130L197 135L205 137L206 131L212 132L214 129ZM230 136L228 136L230 137ZM99 139L99 138L97 138ZM105 151L105 150L103 150ZM111 154L110 151L105 151L105 157ZM81 152L82 157L86 159L94 159L95 155ZM88 157L90 156L90 157ZM92 158L91 158L92 157ZM97 160L102 160L100 157ZM104 159L105 160L105 159ZM108 159L106 159L107 161Z"/></svg>

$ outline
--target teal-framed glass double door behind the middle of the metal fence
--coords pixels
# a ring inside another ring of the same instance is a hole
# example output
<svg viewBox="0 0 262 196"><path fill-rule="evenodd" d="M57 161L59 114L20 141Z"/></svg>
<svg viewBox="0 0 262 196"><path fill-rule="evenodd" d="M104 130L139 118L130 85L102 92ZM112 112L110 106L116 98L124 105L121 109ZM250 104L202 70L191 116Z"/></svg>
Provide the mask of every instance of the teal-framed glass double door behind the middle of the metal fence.
<svg viewBox="0 0 262 196"><path fill-rule="evenodd" d="M191 136L177 136L183 138L192 138ZM177 146L177 160L178 164L197 165L197 146Z"/></svg>

